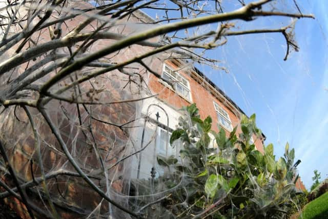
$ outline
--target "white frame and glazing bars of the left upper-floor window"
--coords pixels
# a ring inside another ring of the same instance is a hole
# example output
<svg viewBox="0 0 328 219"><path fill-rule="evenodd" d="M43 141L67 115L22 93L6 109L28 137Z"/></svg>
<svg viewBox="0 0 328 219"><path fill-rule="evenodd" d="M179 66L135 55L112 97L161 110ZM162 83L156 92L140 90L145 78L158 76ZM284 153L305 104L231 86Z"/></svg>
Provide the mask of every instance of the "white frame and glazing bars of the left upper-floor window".
<svg viewBox="0 0 328 219"><path fill-rule="evenodd" d="M171 72L167 71L168 68ZM176 93L178 93L180 96L182 96L183 98L187 99L188 101L192 101L191 100L191 89L190 89L190 84L187 78L185 78L183 75L181 75L179 72L173 70L172 68L170 68L168 65L163 64L163 71L162 71L162 78L164 78L163 76L169 77L173 82L173 88L175 90ZM184 83L183 83L184 82ZM178 86L182 86L182 92L180 92L177 88ZM188 91L188 95L183 94L183 91Z"/></svg>

